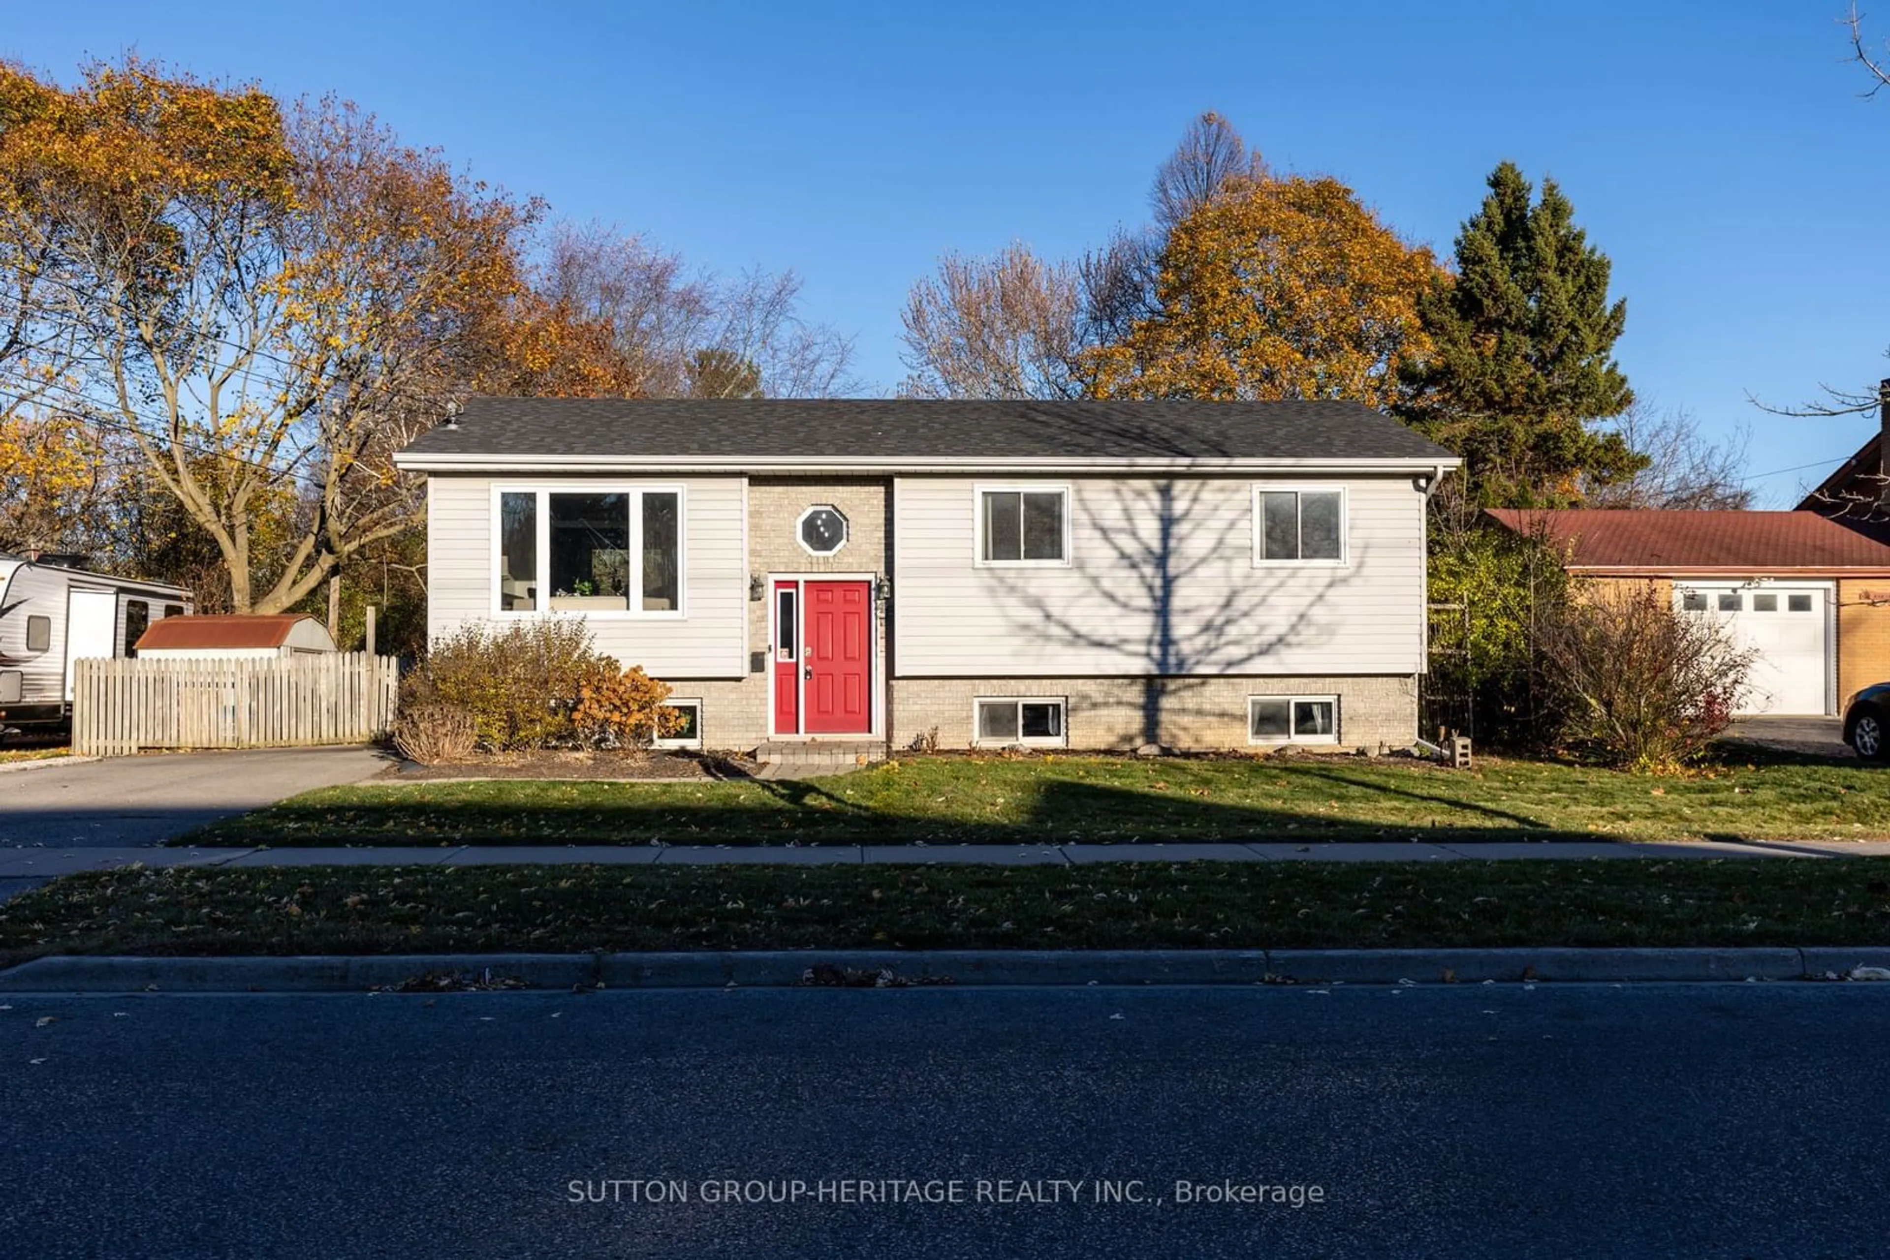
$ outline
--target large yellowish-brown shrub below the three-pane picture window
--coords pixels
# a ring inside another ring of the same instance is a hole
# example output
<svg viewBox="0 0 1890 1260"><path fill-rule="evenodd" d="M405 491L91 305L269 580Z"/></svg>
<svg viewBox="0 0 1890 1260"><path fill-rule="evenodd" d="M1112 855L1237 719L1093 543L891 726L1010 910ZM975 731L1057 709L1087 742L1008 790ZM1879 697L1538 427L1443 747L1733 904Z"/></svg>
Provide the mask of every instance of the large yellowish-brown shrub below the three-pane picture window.
<svg viewBox="0 0 1890 1260"><path fill-rule="evenodd" d="M592 646L576 618L471 623L437 640L401 686L401 710L463 712L480 748L576 746L580 693L618 665Z"/></svg>

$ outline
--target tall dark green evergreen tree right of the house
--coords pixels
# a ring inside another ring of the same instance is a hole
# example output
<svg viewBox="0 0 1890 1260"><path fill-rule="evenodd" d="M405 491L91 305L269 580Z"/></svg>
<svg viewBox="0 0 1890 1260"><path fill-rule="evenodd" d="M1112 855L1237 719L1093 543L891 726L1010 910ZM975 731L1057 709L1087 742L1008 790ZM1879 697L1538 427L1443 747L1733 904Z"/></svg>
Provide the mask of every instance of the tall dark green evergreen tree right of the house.
<svg viewBox="0 0 1890 1260"><path fill-rule="evenodd" d="M1608 300L1608 259L1555 181L1531 204L1521 170L1497 166L1455 261L1457 274L1419 300L1433 353L1406 368L1406 419L1463 455L1463 493L1567 506L1584 484L1644 467L1618 434L1591 427L1633 402L1614 361L1627 302Z"/></svg>

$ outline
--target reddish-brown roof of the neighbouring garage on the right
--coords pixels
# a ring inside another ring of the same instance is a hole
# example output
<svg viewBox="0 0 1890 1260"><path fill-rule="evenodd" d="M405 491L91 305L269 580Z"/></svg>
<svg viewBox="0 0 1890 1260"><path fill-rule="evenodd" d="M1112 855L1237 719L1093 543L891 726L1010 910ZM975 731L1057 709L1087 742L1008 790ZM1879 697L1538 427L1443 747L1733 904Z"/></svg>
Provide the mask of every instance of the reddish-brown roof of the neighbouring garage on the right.
<svg viewBox="0 0 1890 1260"><path fill-rule="evenodd" d="M1890 546L1816 512L1610 512L1489 508L1518 533L1542 531L1571 569L1641 572L1890 572Z"/></svg>

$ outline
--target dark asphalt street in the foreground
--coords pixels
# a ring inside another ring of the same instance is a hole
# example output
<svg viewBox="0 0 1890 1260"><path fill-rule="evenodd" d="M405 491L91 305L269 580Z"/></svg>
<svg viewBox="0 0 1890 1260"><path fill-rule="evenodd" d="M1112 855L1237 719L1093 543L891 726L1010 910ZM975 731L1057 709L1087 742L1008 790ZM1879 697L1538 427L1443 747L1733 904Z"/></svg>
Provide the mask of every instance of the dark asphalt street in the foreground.
<svg viewBox="0 0 1890 1260"><path fill-rule="evenodd" d="M1890 984L6 1005L19 1256L1879 1256L1890 1237ZM796 1181L799 1201L765 1201ZM1098 1181L1128 1201L1098 1203Z"/></svg>

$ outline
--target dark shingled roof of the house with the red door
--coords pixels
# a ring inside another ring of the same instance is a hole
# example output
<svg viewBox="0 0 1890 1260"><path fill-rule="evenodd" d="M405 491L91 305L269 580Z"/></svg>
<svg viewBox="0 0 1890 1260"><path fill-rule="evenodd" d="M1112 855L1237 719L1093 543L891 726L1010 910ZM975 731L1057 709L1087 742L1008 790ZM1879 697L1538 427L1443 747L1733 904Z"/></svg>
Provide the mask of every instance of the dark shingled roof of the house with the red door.
<svg viewBox="0 0 1890 1260"><path fill-rule="evenodd" d="M474 399L403 455L601 459L1421 459L1357 402Z"/></svg>

